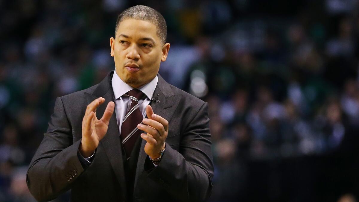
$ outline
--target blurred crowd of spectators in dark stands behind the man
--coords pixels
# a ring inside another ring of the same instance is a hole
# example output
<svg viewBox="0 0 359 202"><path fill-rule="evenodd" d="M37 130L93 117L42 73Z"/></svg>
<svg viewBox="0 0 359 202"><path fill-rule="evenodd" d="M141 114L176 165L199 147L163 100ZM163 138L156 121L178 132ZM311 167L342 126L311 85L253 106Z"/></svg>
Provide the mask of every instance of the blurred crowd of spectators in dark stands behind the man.
<svg viewBox="0 0 359 202"><path fill-rule="evenodd" d="M35 201L55 98L115 68L109 38L137 4L166 19L162 77L209 103L210 201L358 200L358 0L0 0L0 201Z"/></svg>

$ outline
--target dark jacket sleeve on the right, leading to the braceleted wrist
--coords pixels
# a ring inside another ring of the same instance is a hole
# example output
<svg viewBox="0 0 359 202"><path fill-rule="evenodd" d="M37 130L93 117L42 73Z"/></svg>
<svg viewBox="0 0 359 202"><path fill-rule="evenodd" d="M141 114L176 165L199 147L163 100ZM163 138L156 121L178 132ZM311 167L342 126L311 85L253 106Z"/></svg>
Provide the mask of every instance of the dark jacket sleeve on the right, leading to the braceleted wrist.
<svg viewBox="0 0 359 202"><path fill-rule="evenodd" d="M162 184L174 198L183 202L205 201L209 198L213 188L214 169L207 102L185 129L180 152L166 144L159 165L155 168L148 165L150 164L145 162L148 177Z"/></svg>

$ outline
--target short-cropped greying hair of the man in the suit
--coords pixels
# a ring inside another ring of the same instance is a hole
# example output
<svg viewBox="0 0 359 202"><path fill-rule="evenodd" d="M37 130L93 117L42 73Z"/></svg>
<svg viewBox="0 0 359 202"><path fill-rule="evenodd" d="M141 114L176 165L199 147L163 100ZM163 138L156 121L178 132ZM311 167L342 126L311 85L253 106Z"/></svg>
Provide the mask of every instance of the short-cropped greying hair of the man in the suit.
<svg viewBox="0 0 359 202"><path fill-rule="evenodd" d="M155 26L157 27L157 36L160 38L163 44L166 42L167 40L166 21L157 10L149 6L136 5L122 11L122 13L120 13L120 15L118 15L117 17L115 37L117 34L118 26L123 20L126 19L145 20L155 24Z"/></svg>

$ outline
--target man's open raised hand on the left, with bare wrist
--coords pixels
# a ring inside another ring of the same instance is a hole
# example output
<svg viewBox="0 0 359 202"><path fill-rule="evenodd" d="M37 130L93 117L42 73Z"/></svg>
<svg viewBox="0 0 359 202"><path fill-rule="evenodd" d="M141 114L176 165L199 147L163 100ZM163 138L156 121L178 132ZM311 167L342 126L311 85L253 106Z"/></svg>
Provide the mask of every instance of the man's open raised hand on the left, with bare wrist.
<svg viewBox="0 0 359 202"><path fill-rule="evenodd" d="M100 140L105 136L109 120L115 110L115 103L108 102L101 119L96 117L96 108L105 101L99 97L87 105L84 118L82 119L82 138L79 151L83 157L93 154Z"/></svg>

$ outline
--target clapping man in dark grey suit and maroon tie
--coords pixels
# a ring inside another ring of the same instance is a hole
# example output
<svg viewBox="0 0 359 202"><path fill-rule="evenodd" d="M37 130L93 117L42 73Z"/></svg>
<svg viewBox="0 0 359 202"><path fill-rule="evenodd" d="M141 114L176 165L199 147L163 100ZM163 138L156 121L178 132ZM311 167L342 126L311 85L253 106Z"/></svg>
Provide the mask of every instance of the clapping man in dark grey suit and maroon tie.
<svg viewBox="0 0 359 202"><path fill-rule="evenodd" d="M213 160L208 106L158 74L169 51L162 15L134 6L117 18L115 71L58 97L27 173L38 201L205 201ZM115 112L115 113L113 113Z"/></svg>

